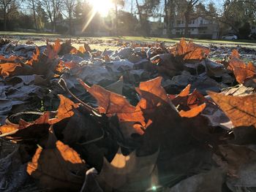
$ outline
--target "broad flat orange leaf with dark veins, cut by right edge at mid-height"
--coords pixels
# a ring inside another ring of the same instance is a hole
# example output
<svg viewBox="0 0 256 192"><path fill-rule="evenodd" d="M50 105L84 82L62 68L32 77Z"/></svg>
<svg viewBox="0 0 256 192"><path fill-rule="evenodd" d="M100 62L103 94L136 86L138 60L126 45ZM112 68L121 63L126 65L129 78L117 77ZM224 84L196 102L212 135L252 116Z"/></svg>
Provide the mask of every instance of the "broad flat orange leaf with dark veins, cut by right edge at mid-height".
<svg viewBox="0 0 256 192"><path fill-rule="evenodd" d="M235 127L255 126L256 128L256 94L225 96L222 93L208 91L208 95L225 112Z"/></svg>

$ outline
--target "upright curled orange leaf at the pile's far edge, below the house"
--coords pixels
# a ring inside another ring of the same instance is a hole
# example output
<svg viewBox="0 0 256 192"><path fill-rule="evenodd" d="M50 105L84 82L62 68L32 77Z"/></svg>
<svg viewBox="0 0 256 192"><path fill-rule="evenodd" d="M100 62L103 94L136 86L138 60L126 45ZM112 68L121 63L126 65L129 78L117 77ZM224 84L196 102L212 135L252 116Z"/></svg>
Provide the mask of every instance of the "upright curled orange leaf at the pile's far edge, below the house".
<svg viewBox="0 0 256 192"><path fill-rule="evenodd" d="M202 60L210 53L208 47L196 45L193 42L186 42L184 38L170 50L174 55L184 55L184 60Z"/></svg>

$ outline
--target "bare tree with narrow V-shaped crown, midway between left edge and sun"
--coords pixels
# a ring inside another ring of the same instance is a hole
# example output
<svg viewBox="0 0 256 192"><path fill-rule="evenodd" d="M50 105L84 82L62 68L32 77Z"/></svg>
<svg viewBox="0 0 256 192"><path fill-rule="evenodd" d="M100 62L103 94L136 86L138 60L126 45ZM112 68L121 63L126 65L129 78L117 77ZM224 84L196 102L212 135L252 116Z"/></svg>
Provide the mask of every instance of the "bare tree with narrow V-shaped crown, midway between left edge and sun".
<svg viewBox="0 0 256 192"><path fill-rule="evenodd" d="M53 32L56 32L57 17L61 8L61 0L42 0L41 4L48 14Z"/></svg>

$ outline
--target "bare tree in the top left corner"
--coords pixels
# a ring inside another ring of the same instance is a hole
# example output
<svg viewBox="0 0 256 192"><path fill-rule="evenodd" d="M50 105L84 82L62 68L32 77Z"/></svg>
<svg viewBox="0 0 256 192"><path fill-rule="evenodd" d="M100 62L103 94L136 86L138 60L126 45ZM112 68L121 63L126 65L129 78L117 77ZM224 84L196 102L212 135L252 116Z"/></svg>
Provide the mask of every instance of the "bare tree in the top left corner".
<svg viewBox="0 0 256 192"><path fill-rule="evenodd" d="M7 30L7 20L9 19L9 15L17 10L20 3L21 1L18 0L0 0L0 6L3 11L4 18L4 31Z"/></svg>

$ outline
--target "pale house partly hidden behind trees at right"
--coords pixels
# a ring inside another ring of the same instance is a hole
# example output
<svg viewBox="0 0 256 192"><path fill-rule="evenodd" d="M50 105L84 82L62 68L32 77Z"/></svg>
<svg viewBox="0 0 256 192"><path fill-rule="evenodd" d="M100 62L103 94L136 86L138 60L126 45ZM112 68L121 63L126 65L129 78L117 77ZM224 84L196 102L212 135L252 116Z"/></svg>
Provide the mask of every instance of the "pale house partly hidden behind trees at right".
<svg viewBox="0 0 256 192"><path fill-rule="evenodd" d="M170 26L171 37L183 37L185 31L185 21L177 19ZM212 20L197 17L189 23L189 37L200 39L218 39L219 26Z"/></svg>

